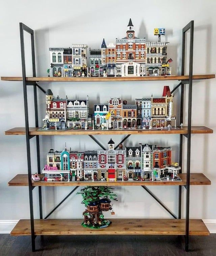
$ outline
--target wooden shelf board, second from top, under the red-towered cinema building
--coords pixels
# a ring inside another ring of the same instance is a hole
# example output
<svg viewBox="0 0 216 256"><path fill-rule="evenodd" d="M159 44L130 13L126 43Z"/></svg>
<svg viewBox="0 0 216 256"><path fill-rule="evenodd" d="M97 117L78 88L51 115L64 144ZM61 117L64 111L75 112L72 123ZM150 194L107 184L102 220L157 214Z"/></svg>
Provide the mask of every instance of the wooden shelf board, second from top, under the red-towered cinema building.
<svg viewBox="0 0 216 256"><path fill-rule="evenodd" d="M178 130L47 130L38 131L39 128L29 128L30 135L102 135L102 134L187 134L188 127ZM213 133L213 130L205 126L192 126L191 133ZM5 131L5 135L25 135L23 127L16 127Z"/></svg>

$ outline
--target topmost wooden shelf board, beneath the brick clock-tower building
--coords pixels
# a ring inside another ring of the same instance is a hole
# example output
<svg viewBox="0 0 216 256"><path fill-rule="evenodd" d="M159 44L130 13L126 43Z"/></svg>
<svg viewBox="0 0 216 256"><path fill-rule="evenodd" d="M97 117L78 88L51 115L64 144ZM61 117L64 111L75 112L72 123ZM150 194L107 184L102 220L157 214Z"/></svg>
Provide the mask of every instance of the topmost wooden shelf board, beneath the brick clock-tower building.
<svg viewBox="0 0 216 256"><path fill-rule="evenodd" d="M214 74L194 75L193 79L211 79ZM104 81L161 81L161 80L187 80L189 76L125 76L125 77L26 77L27 81L47 81L47 82L104 82ZM2 76L2 81L22 81L22 77Z"/></svg>

